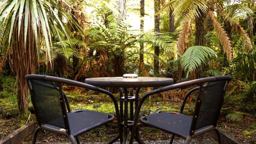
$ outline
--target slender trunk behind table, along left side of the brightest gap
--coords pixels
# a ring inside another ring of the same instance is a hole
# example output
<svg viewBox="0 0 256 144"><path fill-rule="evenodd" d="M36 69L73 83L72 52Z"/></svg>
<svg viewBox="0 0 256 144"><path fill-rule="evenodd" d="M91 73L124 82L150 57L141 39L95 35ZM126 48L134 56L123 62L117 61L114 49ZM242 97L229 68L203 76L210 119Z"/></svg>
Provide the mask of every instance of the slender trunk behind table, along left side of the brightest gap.
<svg viewBox="0 0 256 144"><path fill-rule="evenodd" d="M144 17L145 17L145 0L140 0L140 31L141 32L144 31ZM140 74L144 69L143 52L144 52L144 43L140 42L140 63L139 63Z"/></svg>

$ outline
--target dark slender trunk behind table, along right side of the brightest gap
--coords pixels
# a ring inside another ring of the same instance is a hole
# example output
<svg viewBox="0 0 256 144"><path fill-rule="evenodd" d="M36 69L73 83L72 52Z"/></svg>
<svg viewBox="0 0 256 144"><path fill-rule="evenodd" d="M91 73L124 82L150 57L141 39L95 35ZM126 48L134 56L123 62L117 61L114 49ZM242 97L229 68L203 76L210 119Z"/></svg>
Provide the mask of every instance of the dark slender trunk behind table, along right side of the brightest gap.
<svg viewBox="0 0 256 144"><path fill-rule="evenodd" d="M160 14L159 14L159 10L160 10L160 0L154 0L154 4L155 4L155 31L156 32L160 32ZM159 75L159 60L157 57L159 57L159 46L155 46L154 47L155 50L155 55L156 57L154 57L154 76L158 76Z"/></svg>

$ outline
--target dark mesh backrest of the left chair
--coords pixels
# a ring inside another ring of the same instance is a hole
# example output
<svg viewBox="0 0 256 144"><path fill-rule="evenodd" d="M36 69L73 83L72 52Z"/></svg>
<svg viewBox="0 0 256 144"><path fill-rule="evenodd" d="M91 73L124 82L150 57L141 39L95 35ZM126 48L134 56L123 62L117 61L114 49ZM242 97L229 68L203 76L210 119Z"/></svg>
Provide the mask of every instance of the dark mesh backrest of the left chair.
<svg viewBox="0 0 256 144"><path fill-rule="evenodd" d="M28 85L38 124L51 124L69 130L69 105L61 83L35 77L28 79Z"/></svg>

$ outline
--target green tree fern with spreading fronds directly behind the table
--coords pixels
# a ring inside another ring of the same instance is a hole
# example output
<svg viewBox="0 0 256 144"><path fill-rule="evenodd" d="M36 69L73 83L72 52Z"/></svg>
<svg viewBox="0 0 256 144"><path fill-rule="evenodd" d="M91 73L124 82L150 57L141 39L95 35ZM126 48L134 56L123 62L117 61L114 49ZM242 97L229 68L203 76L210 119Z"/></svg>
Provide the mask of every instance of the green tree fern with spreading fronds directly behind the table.
<svg viewBox="0 0 256 144"><path fill-rule="evenodd" d="M85 35L90 35L90 44L88 45L90 51L94 53L104 51L107 53L105 57L108 58L109 74L113 75L113 68L116 68L115 65L121 65L119 70L122 73L139 71L137 61L139 59L140 43L149 47L144 50L143 54L145 57L150 58L150 62L153 61L152 57L154 57L161 61L164 66L167 66L164 59L174 57L176 49L173 44L174 40L169 33L131 30L125 21L116 22L116 19L113 18L114 14L110 10L99 11L97 15L99 15L100 19L93 24L90 30L86 31ZM152 52L155 45L161 48L160 57L157 57ZM99 55L97 54L91 55L93 59L99 59L98 57ZM118 60L121 61L118 62Z"/></svg>

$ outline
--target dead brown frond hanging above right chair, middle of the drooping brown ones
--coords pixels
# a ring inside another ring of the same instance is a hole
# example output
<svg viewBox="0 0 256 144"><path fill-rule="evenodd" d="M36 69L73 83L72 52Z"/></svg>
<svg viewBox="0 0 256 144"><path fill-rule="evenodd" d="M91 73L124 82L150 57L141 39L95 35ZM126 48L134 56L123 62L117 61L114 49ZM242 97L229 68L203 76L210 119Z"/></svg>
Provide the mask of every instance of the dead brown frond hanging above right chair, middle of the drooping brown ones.
<svg viewBox="0 0 256 144"><path fill-rule="evenodd" d="M220 25L213 11L209 11L208 15L213 21L213 27L217 31L217 36L220 39L220 44L222 45L223 51L226 53L227 59L230 62L231 60L233 60L233 47L231 46L230 38L228 37L225 29Z"/></svg>

